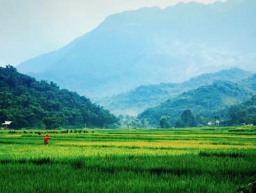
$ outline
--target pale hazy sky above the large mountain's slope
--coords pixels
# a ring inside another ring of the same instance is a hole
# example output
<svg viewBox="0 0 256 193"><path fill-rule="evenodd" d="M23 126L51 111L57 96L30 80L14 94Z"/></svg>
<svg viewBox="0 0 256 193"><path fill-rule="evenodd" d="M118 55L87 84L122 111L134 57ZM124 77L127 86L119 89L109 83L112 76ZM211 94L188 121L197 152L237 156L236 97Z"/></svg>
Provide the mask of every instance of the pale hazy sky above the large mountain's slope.
<svg viewBox="0 0 256 193"><path fill-rule="evenodd" d="M181 1L0 0L0 65L17 65L61 48L97 27L110 14L142 7L165 8Z"/></svg>

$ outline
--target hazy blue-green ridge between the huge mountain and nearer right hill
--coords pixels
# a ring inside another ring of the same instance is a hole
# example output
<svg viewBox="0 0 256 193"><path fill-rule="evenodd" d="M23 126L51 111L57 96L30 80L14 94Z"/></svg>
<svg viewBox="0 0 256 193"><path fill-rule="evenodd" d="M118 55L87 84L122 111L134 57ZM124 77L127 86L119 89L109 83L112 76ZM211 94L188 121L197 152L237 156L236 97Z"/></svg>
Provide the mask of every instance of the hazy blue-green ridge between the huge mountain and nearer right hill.
<svg viewBox="0 0 256 193"><path fill-rule="evenodd" d="M113 114L129 114L134 116L185 91L194 90L203 85L210 85L214 81L219 80L236 82L246 79L250 75L252 73L248 71L232 68L215 73L202 74L183 83L141 85L129 92L98 99L97 102L113 112Z"/></svg>

